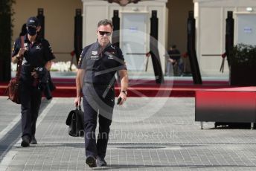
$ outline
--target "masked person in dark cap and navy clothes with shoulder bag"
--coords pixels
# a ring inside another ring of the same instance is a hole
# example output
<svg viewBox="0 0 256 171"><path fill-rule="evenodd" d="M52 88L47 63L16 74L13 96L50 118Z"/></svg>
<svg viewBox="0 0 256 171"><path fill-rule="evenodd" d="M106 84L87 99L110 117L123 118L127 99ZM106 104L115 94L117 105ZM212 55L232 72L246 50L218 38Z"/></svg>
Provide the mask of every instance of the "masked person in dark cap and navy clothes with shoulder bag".
<svg viewBox="0 0 256 171"><path fill-rule="evenodd" d="M36 120L42 98L42 88L39 87L40 77L51 68L54 54L46 39L38 37L41 29L39 20L32 16L26 23L27 34L22 48L21 37L14 42L12 62L16 63L23 56L19 91L22 105L22 143L21 146L36 144ZM45 72L44 72L45 71Z"/></svg>

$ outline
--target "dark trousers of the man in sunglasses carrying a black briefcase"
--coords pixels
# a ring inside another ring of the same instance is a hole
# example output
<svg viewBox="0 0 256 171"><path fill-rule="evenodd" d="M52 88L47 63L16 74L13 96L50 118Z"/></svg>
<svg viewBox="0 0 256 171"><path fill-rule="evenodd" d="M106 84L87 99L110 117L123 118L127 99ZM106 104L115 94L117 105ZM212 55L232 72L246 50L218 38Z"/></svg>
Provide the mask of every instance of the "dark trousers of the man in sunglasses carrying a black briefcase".
<svg viewBox="0 0 256 171"><path fill-rule="evenodd" d="M110 125L112 123L113 107L115 105L114 89L109 89L103 97L104 88L86 88L83 91L84 131L86 156L105 158L109 141ZM99 132L95 135L99 123Z"/></svg>

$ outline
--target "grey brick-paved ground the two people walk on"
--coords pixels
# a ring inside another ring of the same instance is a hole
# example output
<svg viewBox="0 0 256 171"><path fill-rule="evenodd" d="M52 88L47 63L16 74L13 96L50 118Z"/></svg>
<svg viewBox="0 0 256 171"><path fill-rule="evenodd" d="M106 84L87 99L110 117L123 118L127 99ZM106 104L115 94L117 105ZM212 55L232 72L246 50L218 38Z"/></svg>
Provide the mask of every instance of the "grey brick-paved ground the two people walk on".
<svg viewBox="0 0 256 171"><path fill-rule="evenodd" d="M0 97L0 170L91 170L83 138L68 136L72 98L43 100L37 145L20 146L19 106ZM129 98L115 109L106 155L94 170L256 170L256 132L194 121L194 98Z"/></svg>

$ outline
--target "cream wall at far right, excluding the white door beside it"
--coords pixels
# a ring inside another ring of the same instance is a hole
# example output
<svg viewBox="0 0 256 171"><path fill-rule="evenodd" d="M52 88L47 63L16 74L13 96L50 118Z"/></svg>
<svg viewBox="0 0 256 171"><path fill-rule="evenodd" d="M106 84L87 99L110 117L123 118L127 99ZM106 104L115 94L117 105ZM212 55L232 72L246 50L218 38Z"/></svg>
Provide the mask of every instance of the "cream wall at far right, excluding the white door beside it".
<svg viewBox="0 0 256 171"><path fill-rule="evenodd" d="M248 13L246 7L256 10L255 0L193 0L196 19L196 54L202 77L228 77L228 64L225 60L224 73L220 72L225 52L225 19L227 12L233 11L234 25L237 13ZM236 44L237 27L234 29ZM204 55L213 56L204 56Z"/></svg>

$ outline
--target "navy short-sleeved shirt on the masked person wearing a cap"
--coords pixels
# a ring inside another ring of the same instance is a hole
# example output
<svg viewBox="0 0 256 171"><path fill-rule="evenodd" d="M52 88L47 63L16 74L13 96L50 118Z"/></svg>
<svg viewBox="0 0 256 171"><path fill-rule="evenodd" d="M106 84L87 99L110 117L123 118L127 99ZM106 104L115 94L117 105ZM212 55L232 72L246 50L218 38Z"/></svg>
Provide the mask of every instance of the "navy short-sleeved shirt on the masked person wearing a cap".
<svg viewBox="0 0 256 171"><path fill-rule="evenodd" d="M21 47L21 39L19 37L14 42L12 57L19 53L19 49ZM55 57L51 50L51 45L46 39L38 39L36 37L36 42L32 44L28 39L28 35L25 35L24 47L28 48L28 51L25 51L23 57L21 80L33 83L33 77L31 76L33 69L37 67L44 67L46 62L54 59Z"/></svg>

